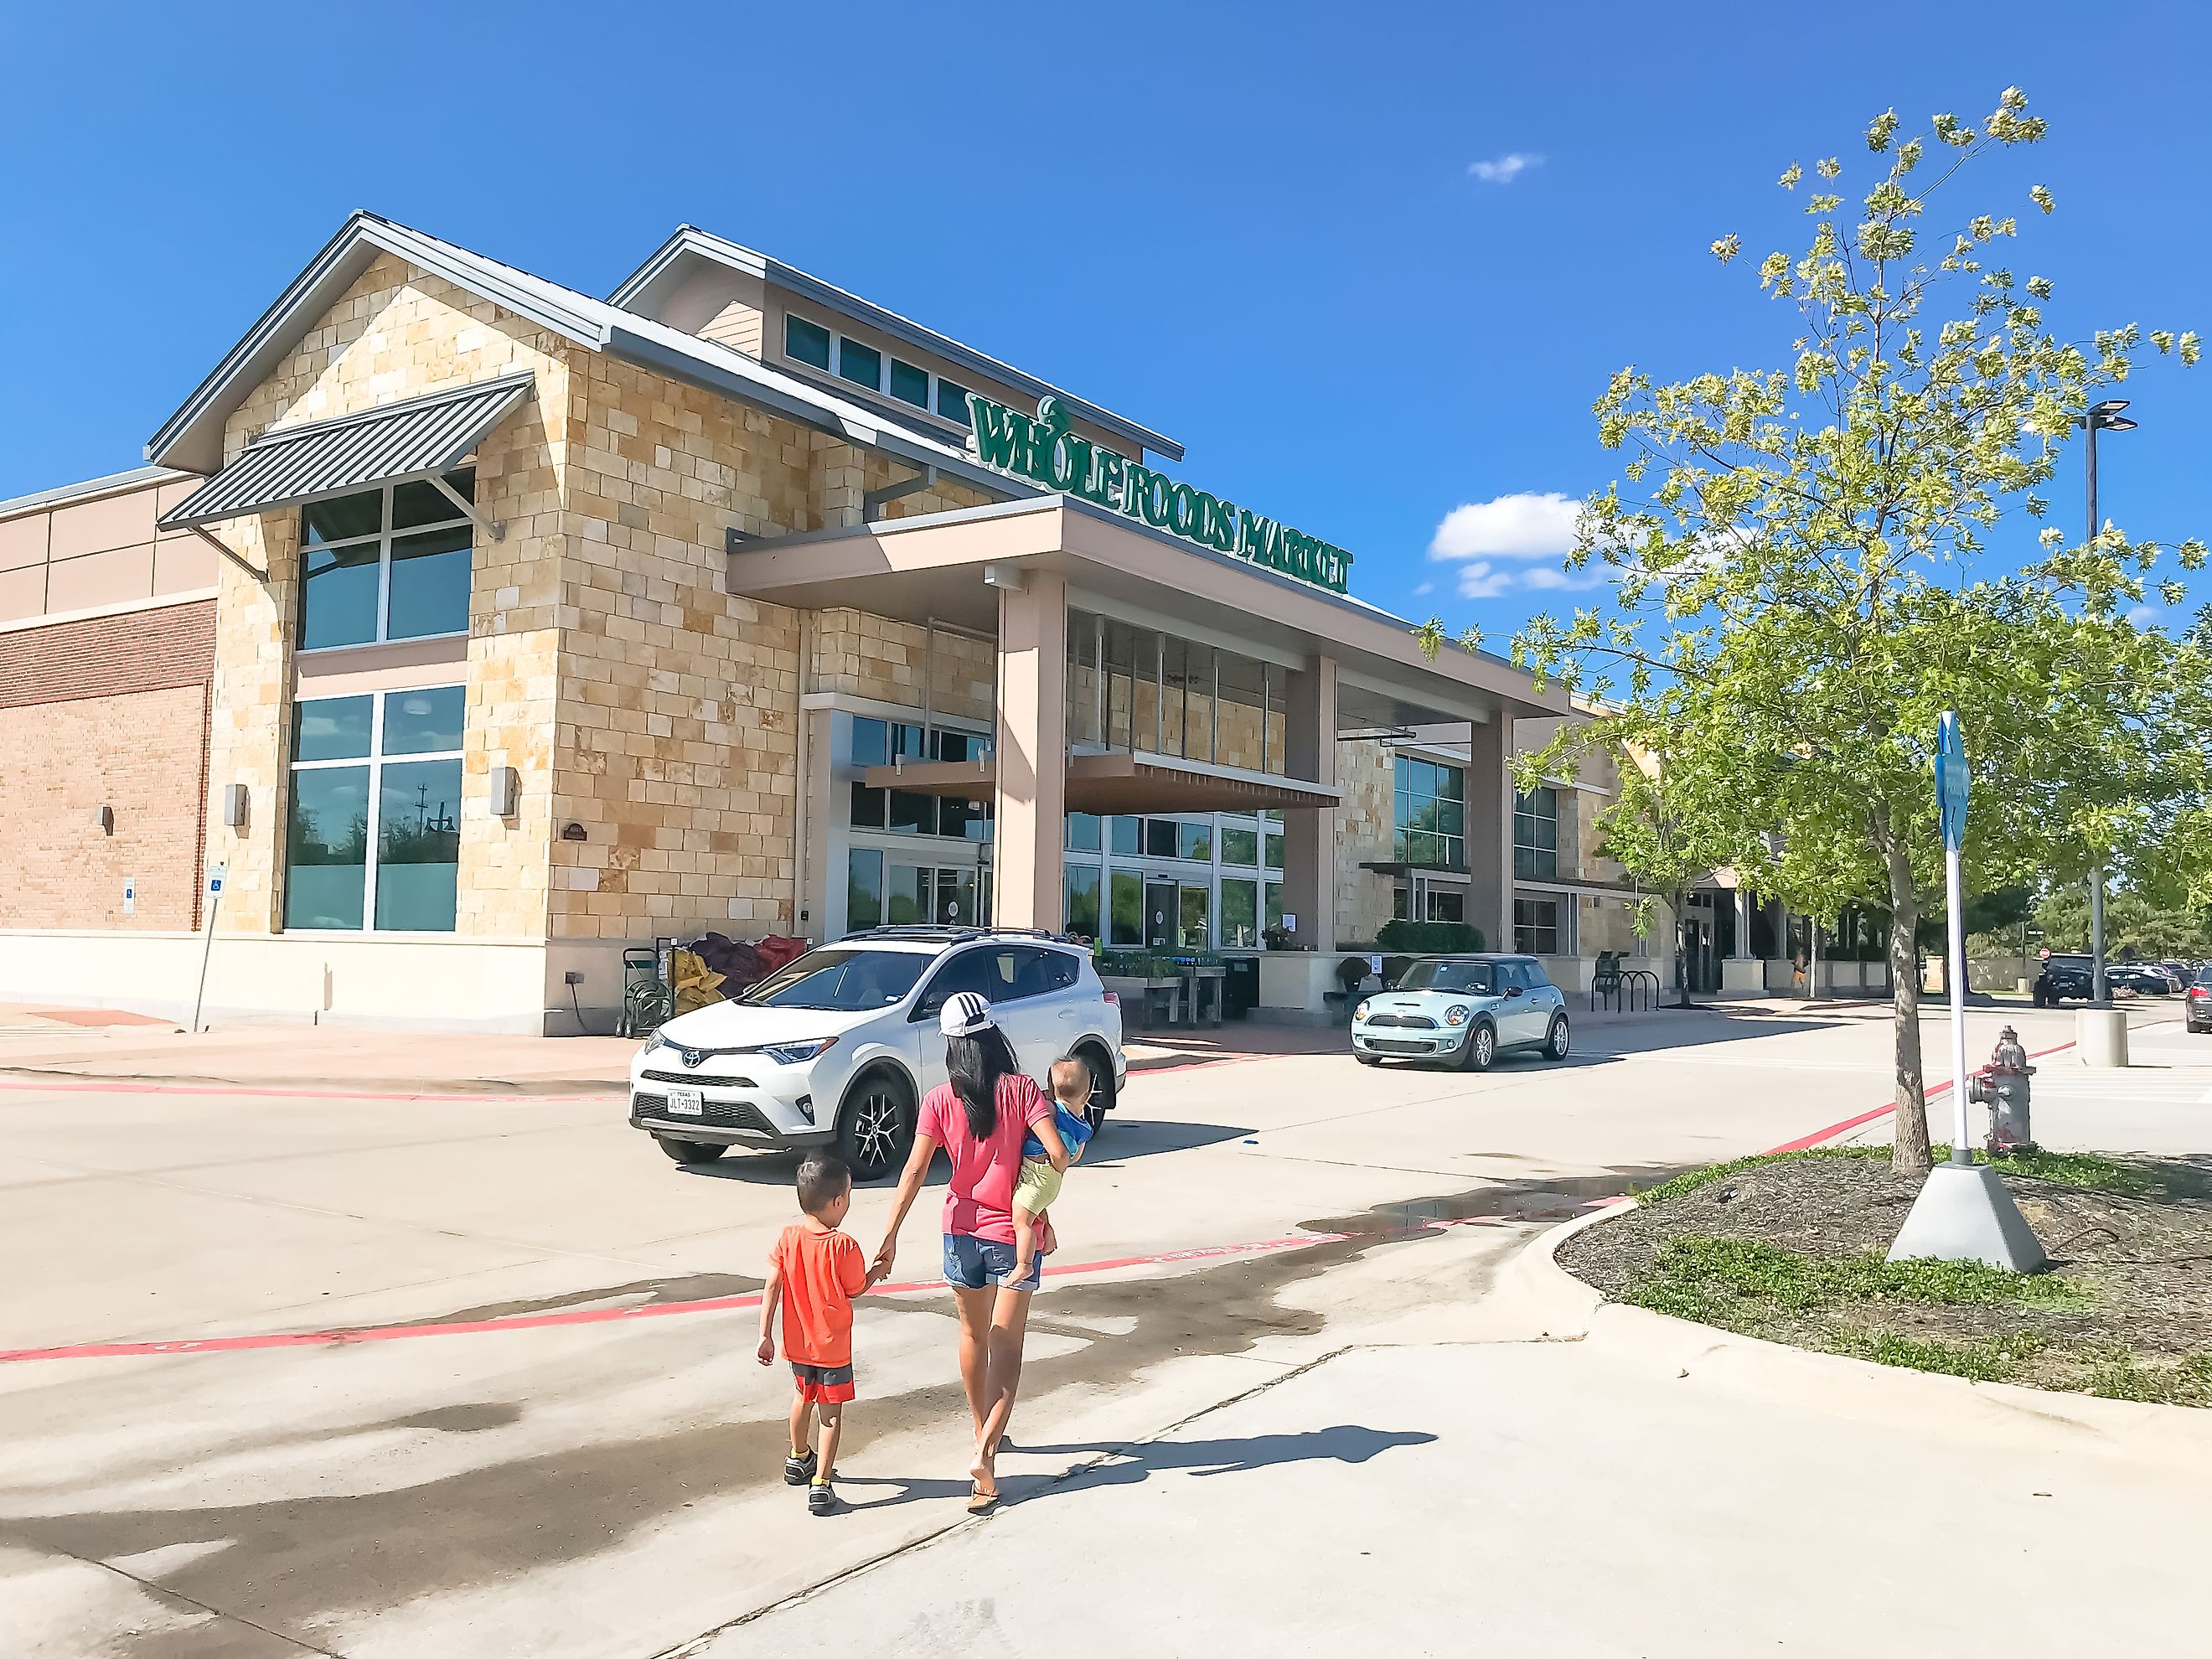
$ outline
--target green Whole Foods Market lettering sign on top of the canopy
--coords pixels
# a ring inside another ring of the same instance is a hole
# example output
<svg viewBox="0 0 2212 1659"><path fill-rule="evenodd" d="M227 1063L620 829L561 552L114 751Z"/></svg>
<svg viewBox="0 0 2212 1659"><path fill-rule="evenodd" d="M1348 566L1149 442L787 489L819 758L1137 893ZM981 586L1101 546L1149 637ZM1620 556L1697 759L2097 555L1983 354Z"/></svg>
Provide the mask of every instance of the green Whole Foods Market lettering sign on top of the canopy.
<svg viewBox="0 0 2212 1659"><path fill-rule="evenodd" d="M1345 591L1352 555L1340 546L1077 438L1060 398L1042 398L1031 418L969 392L969 411L975 416L975 456L984 467L1029 478L1062 495L1082 495L1155 531L1252 560L1316 588Z"/></svg>

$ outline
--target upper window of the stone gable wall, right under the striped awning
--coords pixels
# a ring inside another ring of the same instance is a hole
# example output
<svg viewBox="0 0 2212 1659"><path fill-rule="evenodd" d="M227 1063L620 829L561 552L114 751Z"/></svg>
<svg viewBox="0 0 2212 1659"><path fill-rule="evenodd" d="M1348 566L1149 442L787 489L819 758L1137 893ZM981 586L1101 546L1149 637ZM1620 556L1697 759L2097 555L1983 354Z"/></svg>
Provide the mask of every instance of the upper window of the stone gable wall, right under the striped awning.
<svg viewBox="0 0 2212 1659"><path fill-rule="evenodd" d="M476 473L447 484L476 500ZM303 507L299 648L469 633L476 526L436 484L383 484Z"/></svg>

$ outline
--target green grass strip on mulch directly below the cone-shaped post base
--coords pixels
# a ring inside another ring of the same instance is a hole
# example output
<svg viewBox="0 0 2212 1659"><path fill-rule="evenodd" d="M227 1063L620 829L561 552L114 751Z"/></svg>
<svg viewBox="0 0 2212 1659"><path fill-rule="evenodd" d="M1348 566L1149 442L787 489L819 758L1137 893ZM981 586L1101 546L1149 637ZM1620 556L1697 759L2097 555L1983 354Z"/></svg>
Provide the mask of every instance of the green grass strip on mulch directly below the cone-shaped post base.
<svg viewBox="0 0 2212 1659"><path fill-rule="evenodd" d="M1882 1301L1953 1307L2011 1303L2048 1312L2086 1305L2081 1292L2064 1279L2013 1274L1980 1261L1885 1261L1874 1252L1803 1256L1763 1239L1699 1234L1659 1245L1650 1276L1637 1285L1630 1301L1677 1318L1705 1321L1712 1321L1710 1310L1728 1307L1732 1301L1763 1303L1787 1314ZM1708 1312L1686 1312L1690 1307Z"/></svg>

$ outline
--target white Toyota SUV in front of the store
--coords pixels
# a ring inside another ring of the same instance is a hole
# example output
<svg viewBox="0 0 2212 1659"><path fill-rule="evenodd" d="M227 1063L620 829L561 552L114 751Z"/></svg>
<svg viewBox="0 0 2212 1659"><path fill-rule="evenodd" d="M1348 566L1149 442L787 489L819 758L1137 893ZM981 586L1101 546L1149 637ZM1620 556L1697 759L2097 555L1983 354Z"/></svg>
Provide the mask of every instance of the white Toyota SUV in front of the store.
<svg viewBox="0 0 2212 1659"><path fill-rule="evenodd" d="M945 1082L938 1011L980 991L1037 1077L1091 1064L1091 1121L1128 1077L1121 1006L1082 945L1013 929L878 927L823 945L730 1002L664 1024L630 1062L630 1124L679 1164L732 1146L834 1144L854 1179L891 1175Z"/></svg>

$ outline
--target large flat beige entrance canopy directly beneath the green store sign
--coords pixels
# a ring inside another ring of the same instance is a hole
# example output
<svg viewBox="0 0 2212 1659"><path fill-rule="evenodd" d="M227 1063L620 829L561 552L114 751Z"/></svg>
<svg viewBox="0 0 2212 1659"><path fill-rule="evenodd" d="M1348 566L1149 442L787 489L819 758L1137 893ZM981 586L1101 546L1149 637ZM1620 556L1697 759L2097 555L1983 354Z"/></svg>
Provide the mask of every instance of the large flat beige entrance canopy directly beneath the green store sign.
<svg viewBox="0 0 2212 1659"><path fill-rule="evenodd" d="M1571 712L1562 688L1540 692L1502 657L1458 644L1429 657L1409 622L1376 606L1194 546L1073 495L732 540L728 580L732 593L774 604L852 608L995 635L998 591L1022 586L1029 571L1060 575L1073 608L1290 668L1332 659L1340 732ZM1137 763L1157 759L1164 757L1139 754ZM914 772L907 768L909 776ZM1068 781L1073 787L1073 770Z"/></svg>

